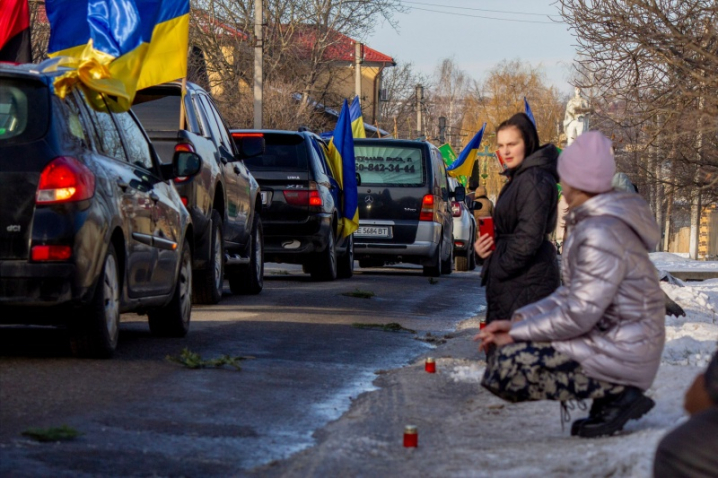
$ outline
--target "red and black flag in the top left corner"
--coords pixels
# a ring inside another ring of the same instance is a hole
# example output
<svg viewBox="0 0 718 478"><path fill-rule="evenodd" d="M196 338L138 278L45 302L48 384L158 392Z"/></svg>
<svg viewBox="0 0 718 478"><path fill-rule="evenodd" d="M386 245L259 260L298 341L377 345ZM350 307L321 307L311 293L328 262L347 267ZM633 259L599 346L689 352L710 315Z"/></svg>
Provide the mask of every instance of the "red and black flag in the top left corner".
<svg viewBox="0 0 718 478"><path fill-rule="evenodd" d="M32 61L27 0L0 0L0 61Z"/></svg>

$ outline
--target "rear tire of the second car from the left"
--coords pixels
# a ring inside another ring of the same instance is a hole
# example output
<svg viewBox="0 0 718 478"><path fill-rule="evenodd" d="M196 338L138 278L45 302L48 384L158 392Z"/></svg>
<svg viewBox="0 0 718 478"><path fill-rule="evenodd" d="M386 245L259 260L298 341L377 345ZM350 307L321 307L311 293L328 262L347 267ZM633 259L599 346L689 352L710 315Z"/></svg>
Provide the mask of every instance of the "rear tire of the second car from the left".
<svg viewBox="0 0 718 478"><path fill-rule="evenodd" d="M210 238L210 255L207 269L194 273L192 285L192 301L195 304L216 304L222 299L224 287L224 235L222 233L222 216L217 210L212 211L212 236Z"/></svg>

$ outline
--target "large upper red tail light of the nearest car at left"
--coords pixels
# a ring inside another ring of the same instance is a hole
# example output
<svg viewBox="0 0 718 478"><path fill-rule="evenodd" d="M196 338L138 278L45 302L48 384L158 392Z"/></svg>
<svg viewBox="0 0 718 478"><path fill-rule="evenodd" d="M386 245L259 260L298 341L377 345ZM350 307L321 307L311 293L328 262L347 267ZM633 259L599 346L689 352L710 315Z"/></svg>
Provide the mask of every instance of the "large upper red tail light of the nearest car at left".
<svg viewBox="0 0 718 478"><path fill-rule="evenodd" d="M95 175L70 156L60 156L45 166L35 195L36 204L83 201L95 195Z"/></svg>

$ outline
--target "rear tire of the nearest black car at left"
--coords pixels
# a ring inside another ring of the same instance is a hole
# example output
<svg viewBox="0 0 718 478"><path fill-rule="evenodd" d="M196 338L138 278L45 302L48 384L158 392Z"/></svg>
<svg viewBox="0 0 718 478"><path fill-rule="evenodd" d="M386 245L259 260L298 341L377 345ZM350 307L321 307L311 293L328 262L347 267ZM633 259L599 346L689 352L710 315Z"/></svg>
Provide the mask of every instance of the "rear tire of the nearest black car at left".
<svg viewBox="0 0 718 478"><path fill-rule="evenodd" d="M92 302L68 323L74 356L110 358L115 352L120 335L120 277L117 254L110 244Z"/></svg>

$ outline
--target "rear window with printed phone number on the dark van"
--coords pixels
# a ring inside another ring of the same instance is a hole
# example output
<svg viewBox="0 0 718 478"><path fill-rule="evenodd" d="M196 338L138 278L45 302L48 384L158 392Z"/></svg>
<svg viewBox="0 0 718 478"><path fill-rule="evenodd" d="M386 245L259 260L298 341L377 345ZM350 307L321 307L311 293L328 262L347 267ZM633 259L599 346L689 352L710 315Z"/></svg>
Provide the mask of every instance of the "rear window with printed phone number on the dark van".
<svg viewBox="0 0 718 478"><path fill-rule="evenodd" d="M420 146L357 145L356 171L362 186L423 186L426 184Z"/></svg>

